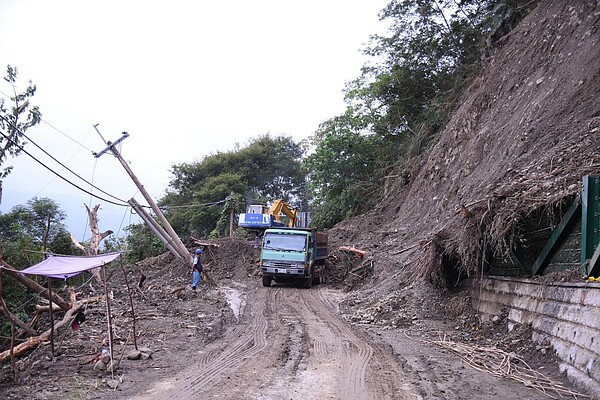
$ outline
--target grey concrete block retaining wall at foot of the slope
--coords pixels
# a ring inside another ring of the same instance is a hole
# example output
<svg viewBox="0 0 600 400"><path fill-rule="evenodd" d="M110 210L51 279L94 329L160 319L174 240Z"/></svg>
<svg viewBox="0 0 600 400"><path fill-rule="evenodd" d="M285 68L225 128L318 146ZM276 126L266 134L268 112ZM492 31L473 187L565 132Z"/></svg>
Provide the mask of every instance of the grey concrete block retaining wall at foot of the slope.
<svg viewBox="0 0 600 400"><path fill-rule="evenodd" d="M531 324L533 339L549 343L561 372L600 398L600 284L542 284L529 279L470 279L465 285L484 320L508 311L508 329Z"/></svg>

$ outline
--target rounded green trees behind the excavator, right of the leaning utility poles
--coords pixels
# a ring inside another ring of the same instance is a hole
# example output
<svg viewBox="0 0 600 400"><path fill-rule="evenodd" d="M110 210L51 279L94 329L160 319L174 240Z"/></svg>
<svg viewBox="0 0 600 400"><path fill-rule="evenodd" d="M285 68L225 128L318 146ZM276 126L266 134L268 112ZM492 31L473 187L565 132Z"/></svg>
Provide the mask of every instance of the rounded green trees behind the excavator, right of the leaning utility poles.
<svg viewBox="0 0 600 400"><path fill-rule="evenodd" d="M302 154L302 147L290 137L267 134L250 140L246 147L174 165L169 190L159 204L182 237L226 235L223 215L230 212L227 207L233 203L227 204L226 199L232 193L246 202L281 198L298 203L306 191ZM236 202L236 215L245 206Z"/></svg>

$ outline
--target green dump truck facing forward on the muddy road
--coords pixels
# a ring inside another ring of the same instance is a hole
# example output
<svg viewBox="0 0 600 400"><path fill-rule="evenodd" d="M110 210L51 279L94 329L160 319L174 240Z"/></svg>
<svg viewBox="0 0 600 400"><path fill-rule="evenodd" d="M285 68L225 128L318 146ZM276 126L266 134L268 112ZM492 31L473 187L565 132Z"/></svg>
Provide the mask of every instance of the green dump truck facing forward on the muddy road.
<svg viewBox="0 0 600 400"><path fill-rule="evenodd" d="M301 282L305 288L326 279L327 234L316 228L271 228L262 238L259 267L263 286Z"/></svg>

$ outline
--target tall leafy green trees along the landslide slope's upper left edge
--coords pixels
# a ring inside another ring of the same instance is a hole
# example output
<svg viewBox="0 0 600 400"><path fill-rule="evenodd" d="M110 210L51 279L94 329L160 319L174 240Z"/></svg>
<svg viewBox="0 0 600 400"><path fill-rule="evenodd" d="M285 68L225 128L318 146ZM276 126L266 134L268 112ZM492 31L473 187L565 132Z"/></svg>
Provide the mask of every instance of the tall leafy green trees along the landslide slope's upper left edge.
<svg viewBox="0 0 600 400"><path fill-rule="evenodd" d="M523 4L521 4L523 3ZM304 163L313 221L322 227L371 209L390 176L437 137L494 41L535 6L519 0L392 0L389 35L345 88L346 111L323 122Z"/></svg>

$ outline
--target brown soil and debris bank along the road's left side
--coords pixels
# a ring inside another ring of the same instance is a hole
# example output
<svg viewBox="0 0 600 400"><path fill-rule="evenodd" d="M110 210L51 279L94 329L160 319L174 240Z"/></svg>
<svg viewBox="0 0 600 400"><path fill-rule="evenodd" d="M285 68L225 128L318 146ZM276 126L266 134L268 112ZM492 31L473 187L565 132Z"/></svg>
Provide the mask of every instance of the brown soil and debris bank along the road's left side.
<svg viewBox="0 0 600 400"><path fill-rule="evenodd" d="M239 310L234 310L228 299L235 288L228 285L234 278L244 281L256 272L257 249L246 240L211 240L203 248L203 262L218 287L205 282L196 292L190 289L189 265L171 253L124 266L127 282L115 265L118 261L109 264L112 361L106 359L109 346L104 290L93 279L76 287L77 300L85 304L85 321L77 330L56 333L54 355L46 342L18 358L18 384L13 381L11 364L3 364L0 392L7 399L108 398L123 382L155 381L183 368L181 357L185 357L186 349L193 351L194 342L218 340L228 325L236 323ZM68 290L65 286L58 292L64 295ZM59 317L57 313L55 318ZM45 330L48 325L46 313L38 329Z"/></svg>

